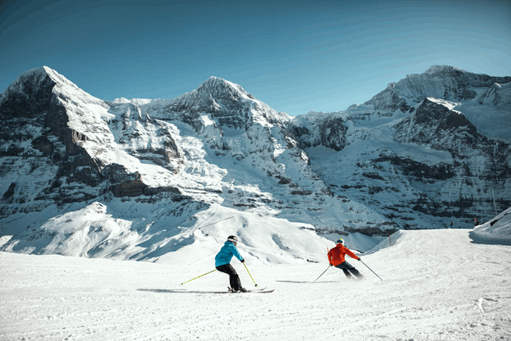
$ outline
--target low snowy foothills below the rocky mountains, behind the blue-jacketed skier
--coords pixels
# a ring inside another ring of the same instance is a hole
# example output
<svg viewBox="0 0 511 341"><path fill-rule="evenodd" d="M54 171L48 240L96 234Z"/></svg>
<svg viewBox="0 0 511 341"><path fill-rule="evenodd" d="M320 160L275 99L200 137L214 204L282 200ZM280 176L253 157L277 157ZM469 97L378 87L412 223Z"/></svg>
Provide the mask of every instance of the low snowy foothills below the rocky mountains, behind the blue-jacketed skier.
<svg viewBox="0 0 511 341"><path fill-rule="evenodd" d="M94 202L82 209L71 211L48 220L38 228L29 228L24 234L7 241L3 251L33 254L59 254L65 256L112 258L118 260L145 260L178 262L215 252L229 235L237 235L242 254L255 264L292 264L304 260L323 258L332 241L318 236L310 224L291 223L258 213L239 212L212 205L207 210L187 203L181 215L171 216L172 207L131 205L130 215L123 215L127 203L112 202L110 206ZM195 216L189 218L194 213ZM153 211L154 215L139 211ZM166 219L162 219L163 215ZM160 216L160 217L158 217ZM27 224L30 217L25 218ZM18 222L21 223L21 222ZM6 229L4 229L6 230ZM6 230L6 232L9 232ZM357 249L365 251L374 241L366 237ZM1 245L0 245L1 246Z"/></svg>

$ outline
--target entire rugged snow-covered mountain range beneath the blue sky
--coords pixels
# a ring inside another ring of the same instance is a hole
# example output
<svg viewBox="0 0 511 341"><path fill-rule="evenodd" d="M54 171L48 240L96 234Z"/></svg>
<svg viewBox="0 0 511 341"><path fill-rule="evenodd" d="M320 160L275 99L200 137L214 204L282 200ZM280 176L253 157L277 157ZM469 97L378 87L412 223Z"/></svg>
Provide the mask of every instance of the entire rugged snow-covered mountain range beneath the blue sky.
<svg viewBox="0 0 511 341"><path fill-rule="evenodd" d="M290 117L216 77L173 100L110 102L30 70L0 97L2 250L157 259L204 234L250 245L259 228L272 257L254 257L285 261L322 251L311 230L466 227L493 216L493 196L511 206L510 84L435 66L345 111ZM303 233L310 254L261 225Z"/></svg>

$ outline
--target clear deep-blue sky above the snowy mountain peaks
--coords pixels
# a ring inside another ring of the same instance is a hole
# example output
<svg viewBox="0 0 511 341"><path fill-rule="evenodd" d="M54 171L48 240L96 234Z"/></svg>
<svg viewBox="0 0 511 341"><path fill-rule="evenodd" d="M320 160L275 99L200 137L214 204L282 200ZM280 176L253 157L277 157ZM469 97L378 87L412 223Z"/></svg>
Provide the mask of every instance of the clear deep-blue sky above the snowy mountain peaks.
<svg viewBox="0 0 511 341"><path fill-rule="evenodd" d="M0 91L46 65L93 96L172 99L210 76L290 115L407 74L511 76L511 1L0 0Z"/></svg>

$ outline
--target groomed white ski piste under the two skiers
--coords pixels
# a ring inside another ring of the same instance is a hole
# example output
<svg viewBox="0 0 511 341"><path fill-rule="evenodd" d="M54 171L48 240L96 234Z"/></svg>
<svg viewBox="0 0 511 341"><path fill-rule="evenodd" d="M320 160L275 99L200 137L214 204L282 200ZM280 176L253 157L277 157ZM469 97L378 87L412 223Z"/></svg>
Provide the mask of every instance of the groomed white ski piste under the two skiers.
<svg viewBox="0 0 511 341"><path fill-rule="evenodd" d="M214 255L209 269L0 253L0 340L511 340L510 246L467 230L400 234L362 256L383 281L355 260L364 281L329 268L312 283L326 260L247 264L271 294L171 292L226 290L218 272L179 285Z"/></svg>

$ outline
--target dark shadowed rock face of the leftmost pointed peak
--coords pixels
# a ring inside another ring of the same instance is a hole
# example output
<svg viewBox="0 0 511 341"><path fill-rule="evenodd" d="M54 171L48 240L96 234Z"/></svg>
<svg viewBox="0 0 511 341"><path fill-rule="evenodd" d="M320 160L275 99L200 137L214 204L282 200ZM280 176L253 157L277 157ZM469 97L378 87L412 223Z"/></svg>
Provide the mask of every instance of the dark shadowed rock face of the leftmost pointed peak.
<svg viewBox="0 0 511 341"><path fill-rule="evenodd" d="M5 129L0 137L0 155L4 157L0 172L4 179L16 178L11 182L15 184L11 187L12 202L26 203L35 210L44 207L45 200L82 201L100 193L94 189L100 182L98 167L77 143L86 137L68 126L66 108L55 94L55 86L46 68L41 68L22 75L1 98ZM83 168L89 169L87 176L79 175ZM53 171L47 173L47 169ZM75 173L75 177L67 178ZM90 188L82 191L82 184ZM63 188L73 191L73 195L62 192ZM2 214L20 209L3 207Z"/></svg>

